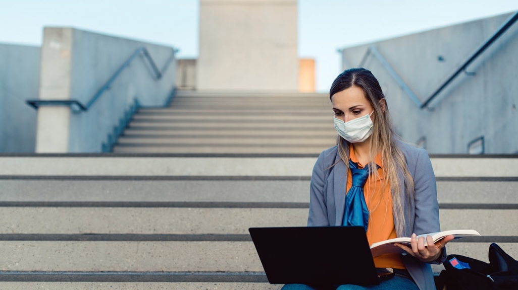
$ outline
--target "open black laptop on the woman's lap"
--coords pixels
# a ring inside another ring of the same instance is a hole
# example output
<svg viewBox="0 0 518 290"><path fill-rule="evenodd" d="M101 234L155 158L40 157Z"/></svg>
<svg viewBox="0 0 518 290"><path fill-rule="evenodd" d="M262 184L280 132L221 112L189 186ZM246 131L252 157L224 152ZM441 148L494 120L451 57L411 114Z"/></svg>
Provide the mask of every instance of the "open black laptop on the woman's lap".
<svg viewBox="0 0 518 290"><path fill-rule="evenodd" d="M251 227L249 232L271 284L379 284L361 226Z"/></svg>

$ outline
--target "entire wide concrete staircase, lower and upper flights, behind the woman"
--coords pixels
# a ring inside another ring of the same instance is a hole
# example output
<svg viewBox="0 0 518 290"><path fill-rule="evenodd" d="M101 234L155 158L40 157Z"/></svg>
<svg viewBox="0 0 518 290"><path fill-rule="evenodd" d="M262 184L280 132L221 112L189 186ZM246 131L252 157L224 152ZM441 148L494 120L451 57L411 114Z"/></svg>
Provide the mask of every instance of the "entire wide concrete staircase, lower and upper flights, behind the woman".
<svg viewBox="0 0 518 290"><path fill-rule="evenodd" d="M248 228L306 225L330 105L237 96L140 110L116 154L0 156L0 289L279 289ZM483 235L449 252L487 261L497 242L518 258L518 156L432 163L442 230Z"/></svg>

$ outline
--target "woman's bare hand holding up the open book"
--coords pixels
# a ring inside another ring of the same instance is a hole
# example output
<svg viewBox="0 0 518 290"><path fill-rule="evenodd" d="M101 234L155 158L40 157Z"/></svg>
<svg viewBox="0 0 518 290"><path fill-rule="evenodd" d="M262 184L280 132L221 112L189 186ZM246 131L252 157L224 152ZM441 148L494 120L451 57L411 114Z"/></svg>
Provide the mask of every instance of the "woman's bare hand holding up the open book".
<svg viewBox="0 0 518 290"><path fill-rule="evenodd" d="M444 248L444 246L446 246L446 244L453 238L454 237L452 235L449 235L434 244L434 240L431 236L426 236L426 245L428 245L428 247L425 247L424 237L420 237L418 239L415 234L412 234L412 237L410 238L411 248L402 245L401 243L395 243L394 246L399 247L419 260L428 263L437 260L441 255L442 248Z"/></svg>

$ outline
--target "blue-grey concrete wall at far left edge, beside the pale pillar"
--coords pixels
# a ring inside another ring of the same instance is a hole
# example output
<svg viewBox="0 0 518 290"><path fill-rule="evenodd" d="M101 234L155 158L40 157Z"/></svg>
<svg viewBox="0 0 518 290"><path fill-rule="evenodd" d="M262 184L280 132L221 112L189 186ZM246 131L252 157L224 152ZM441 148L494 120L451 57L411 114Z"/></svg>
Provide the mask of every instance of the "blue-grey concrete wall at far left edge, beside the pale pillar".
<svg viewBox="0 0 518 290"><path fill-rule="evenodd" d="M40 48L0 44L0 152L34 152Z"/></svg>

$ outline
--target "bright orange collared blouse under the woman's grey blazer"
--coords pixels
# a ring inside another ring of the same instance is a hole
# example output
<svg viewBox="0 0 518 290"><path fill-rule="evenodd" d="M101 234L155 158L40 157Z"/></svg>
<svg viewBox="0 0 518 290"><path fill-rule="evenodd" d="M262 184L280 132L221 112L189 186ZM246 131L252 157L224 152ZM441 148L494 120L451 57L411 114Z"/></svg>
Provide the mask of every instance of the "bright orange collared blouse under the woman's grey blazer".
<svg viewBox="0 0 518 290"><path fill-rule="evenodd" d="M353 146L349 151L349 159L358 164L358 168L363 168L364 164L360 164L354 155ZM397 238L396 228L394 226L394 216L392 213L392 192L390 189L390 181L385 187L383 168L381 163L381 153L376 156L376 164L378 168L379 178L376 175L370 175L363 187L365 203L369 209L369 224L367 227L367 240L369 246L372 243ZM347 173L347 190L352 186L351 171ZM405 265L401 262L399 254L386 254L374 258L376 268L396 268L405 269Z"/></svg>

